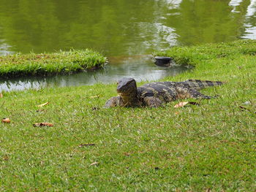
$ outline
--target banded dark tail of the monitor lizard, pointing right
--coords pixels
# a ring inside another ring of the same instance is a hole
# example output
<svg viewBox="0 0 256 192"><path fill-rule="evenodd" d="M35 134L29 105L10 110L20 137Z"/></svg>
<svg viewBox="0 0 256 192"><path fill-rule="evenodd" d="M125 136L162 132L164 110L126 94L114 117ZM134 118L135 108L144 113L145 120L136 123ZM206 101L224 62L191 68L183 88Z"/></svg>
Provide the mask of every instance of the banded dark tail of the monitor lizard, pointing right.
<svg viewBox="0 0 256 192"><path fill-rule="evenodd" d="M196 90L208 88L211 86L219 86L225 83L222 81L210 81L210 80L186 80L184 82L187 82L187 84L189 85L189 88L194 88Z"/></svg>

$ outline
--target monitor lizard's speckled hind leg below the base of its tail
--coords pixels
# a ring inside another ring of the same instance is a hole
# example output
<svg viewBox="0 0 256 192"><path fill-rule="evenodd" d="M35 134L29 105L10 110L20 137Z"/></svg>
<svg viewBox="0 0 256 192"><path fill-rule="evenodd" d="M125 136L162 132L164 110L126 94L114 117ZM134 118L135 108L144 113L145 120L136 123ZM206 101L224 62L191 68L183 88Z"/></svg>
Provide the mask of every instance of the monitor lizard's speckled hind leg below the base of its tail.
<svg viewBox="0 0 256 192"><path fill-rule="evenodd" d="M188 99L188 98L211 99L213 98L212 96L206 96L203 93L200 93L199 91L192 88L177 87L176 90L178 92L178 99Z"/></svg>

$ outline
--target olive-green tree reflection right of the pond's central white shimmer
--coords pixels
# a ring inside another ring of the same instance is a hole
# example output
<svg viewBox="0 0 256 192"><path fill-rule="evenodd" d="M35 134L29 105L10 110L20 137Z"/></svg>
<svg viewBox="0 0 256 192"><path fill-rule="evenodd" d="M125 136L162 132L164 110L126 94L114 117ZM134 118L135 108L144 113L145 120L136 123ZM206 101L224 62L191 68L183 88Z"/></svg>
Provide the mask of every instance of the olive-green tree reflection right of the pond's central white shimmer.
<svg viewBox="0 0 256 192"><path fill-rule="evenodd" d="M249 0L241 2L235 13L228 4L229 0L183 0L179 14L170 15L167 23L176 28L178 41L185 45L231 41L241 36Z"/></svg>

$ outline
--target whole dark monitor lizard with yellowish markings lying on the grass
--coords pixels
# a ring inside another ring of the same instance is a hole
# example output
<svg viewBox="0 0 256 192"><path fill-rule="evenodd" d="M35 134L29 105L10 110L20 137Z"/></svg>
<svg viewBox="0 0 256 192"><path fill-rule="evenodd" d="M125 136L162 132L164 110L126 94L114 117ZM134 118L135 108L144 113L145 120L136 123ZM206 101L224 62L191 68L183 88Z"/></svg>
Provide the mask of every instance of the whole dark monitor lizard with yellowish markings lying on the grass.
<svg viewBox="0 0 256 192"><path fill-rule="evenodd" d="M119 96L110 98L105 107L159 107L176 99L211 99L211 96L205 96L199 90L210 86L222 85L223 83L207 80L151 82L137 88L134 79L123 78L118 81L117 92Z"/></svg>

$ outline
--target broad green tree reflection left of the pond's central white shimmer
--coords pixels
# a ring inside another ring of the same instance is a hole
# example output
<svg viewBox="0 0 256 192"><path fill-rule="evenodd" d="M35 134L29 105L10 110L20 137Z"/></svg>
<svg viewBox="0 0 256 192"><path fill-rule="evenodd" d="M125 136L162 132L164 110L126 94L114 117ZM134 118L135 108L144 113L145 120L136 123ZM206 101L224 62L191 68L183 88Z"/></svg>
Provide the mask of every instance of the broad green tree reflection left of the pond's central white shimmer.
<svg viewBox="0 0 256 192"><path fill-rule="evenodd" d="M143 31L139 26L129 27L130 23L151 22L156 9L147 0L0 0L0 4L1 36L25 53L70 47L124 53L127 42Z"/></svg>

